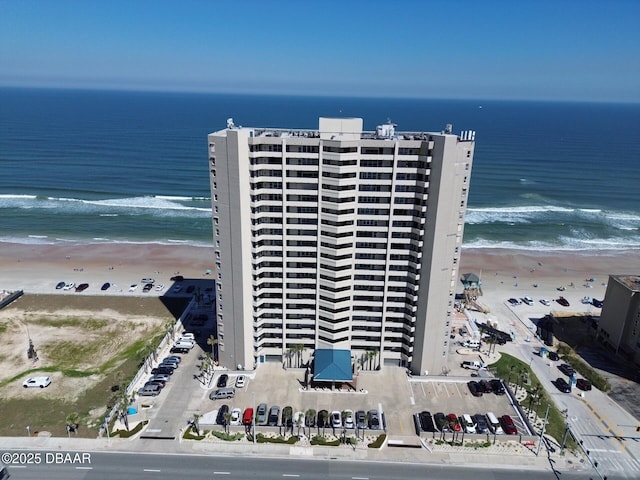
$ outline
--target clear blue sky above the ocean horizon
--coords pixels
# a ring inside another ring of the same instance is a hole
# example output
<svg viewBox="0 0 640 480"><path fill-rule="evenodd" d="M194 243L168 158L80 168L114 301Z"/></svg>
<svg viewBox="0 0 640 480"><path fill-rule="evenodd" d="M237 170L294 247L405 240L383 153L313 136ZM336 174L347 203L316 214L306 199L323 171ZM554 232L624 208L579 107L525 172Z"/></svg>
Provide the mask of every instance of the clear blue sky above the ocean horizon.
<svg viewBox="0 0 640 480"><path fill-rule="evenodd" d="M640 0L0 0L0 86L640 102Z"/></svg>

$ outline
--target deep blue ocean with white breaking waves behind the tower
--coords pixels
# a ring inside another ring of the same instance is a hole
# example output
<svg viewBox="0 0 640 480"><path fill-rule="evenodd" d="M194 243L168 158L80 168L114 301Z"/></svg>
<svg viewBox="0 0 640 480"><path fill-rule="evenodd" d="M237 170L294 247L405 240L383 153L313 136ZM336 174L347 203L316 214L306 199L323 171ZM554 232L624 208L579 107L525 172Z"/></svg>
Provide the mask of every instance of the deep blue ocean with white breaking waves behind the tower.
<svg viewBox="0 0 640 480"><path fill-rule="evenodd" d="M463 246L640 249L640 104L0 89L0 241L211 244L207 134L475 130Z"/></svg>

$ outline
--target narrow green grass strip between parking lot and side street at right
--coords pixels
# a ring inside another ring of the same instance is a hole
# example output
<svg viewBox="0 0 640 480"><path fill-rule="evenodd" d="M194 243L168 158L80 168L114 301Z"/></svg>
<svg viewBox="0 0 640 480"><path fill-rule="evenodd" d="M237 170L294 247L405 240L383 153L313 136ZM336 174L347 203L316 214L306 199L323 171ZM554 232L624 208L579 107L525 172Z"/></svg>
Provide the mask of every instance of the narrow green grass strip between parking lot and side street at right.
<svg viewBox="0 0 640 480"><path fill-rule="evenodd" d="M518 360L515 357L512 357L507 353L502 353L500 360L491 365L491 367L495 375L505 381L511 379L512 382L515 382L521 374L526 373L529 377L530 382L530 386L527 386L527 390L529 392L533 390L536 385L540 385L540 381L535 376L528 364ZM528 400L525 399L522 404L528 406ZM551 408L549 409L549 421L547 423L545 433L555 438L558 443L561 443L567 423L560 410L558 410L558 408L551 400L551 397L549 397L547 391L542 388L540 389L540 401L538 402L538 404L533 404L532 408L540 418L544 418L547 405L550 405ZM566 446L567 448L572 450L578 447L571 436L568 436Z"/></svg>

